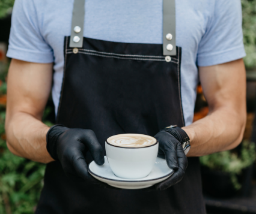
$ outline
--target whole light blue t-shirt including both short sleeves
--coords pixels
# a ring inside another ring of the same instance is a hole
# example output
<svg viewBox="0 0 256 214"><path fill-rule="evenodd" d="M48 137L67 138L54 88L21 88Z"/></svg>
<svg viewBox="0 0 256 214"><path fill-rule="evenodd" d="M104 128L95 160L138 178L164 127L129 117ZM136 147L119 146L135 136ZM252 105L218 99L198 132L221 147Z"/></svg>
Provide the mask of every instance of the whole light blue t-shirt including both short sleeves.
<svg viewBox="0 0 256 214"><path fill-rule="evenodd" d="M123 43L162 44L163 0L86 0L84 37ZM64 36L70 35L73 0L16 0L7 56L54 62L52 97L58 110L64 66ZM177 46L181 56L181 101L192 123L197 66L245 56L240 0L177 0Z"/></svg>

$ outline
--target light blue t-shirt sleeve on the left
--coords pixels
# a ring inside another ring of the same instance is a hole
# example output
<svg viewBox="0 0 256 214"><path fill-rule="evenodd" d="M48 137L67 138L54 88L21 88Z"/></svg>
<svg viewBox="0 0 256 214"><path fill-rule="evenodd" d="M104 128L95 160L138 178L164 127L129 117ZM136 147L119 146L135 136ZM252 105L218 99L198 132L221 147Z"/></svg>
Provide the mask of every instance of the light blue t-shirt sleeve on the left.
<svg viewBox="0 0 256 214"><path fill-rule="evenodd" d="M33 0L16 0L11 17L7 56L28 62L53 62L53 51L41 35Z"/></svg>

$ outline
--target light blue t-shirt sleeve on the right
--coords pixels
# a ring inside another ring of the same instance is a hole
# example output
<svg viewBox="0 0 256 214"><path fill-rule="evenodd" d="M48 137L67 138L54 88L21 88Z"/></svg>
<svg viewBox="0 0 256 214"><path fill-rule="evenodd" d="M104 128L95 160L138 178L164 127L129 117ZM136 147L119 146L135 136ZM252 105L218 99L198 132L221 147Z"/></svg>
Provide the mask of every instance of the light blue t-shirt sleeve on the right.
<svg viewBox="0 0 256 214"><path fill-rule="evenodd" d="M240 0L216 0L198 47L198 66L222 64L245 55Z"/></svg>

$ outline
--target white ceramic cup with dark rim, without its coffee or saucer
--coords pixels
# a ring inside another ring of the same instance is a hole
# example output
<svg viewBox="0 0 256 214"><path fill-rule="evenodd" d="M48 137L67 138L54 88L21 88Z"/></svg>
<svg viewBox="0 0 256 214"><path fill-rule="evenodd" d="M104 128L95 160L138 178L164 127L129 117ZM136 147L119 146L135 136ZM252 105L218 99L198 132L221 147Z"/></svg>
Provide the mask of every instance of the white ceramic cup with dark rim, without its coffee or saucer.
<svg viewBox="0 0 256 214"><path fill-rule="evenodd" d="M118 134L117 137L147 136L143 134ZM112 136L113 137L113 136ZM156 162L159 143L154 137L150 137L154 143L144 147L122 147L105 142L106 156L109 166L115 176L124 179L140 179L150 174L154 162Z"/></svg>

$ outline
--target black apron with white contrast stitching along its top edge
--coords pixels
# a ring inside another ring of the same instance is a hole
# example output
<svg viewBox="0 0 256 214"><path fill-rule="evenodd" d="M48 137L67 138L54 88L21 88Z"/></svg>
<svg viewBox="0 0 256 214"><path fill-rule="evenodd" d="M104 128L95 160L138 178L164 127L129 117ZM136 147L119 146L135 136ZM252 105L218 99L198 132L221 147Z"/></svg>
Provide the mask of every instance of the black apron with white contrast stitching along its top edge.
<svg viewBox="0 0 256 214"><path fill-rule="evenodd" d="M91 38L83 38L80 48L71 48L70 44L70 37L66 37L57 123L69 128L92 129L103 150L106 138L111 135L154 136L166 126L184 126L180 47L174 46L176 55L169 61L170 58L163 56L161 44L115 43ZM90 153L86 159L92 161ZM206 213L199 161L189 158L183 180L177 185L165 191L149 192L76 183L65 176L58 161L51 162L46 167L35 213Z"/></svg>

